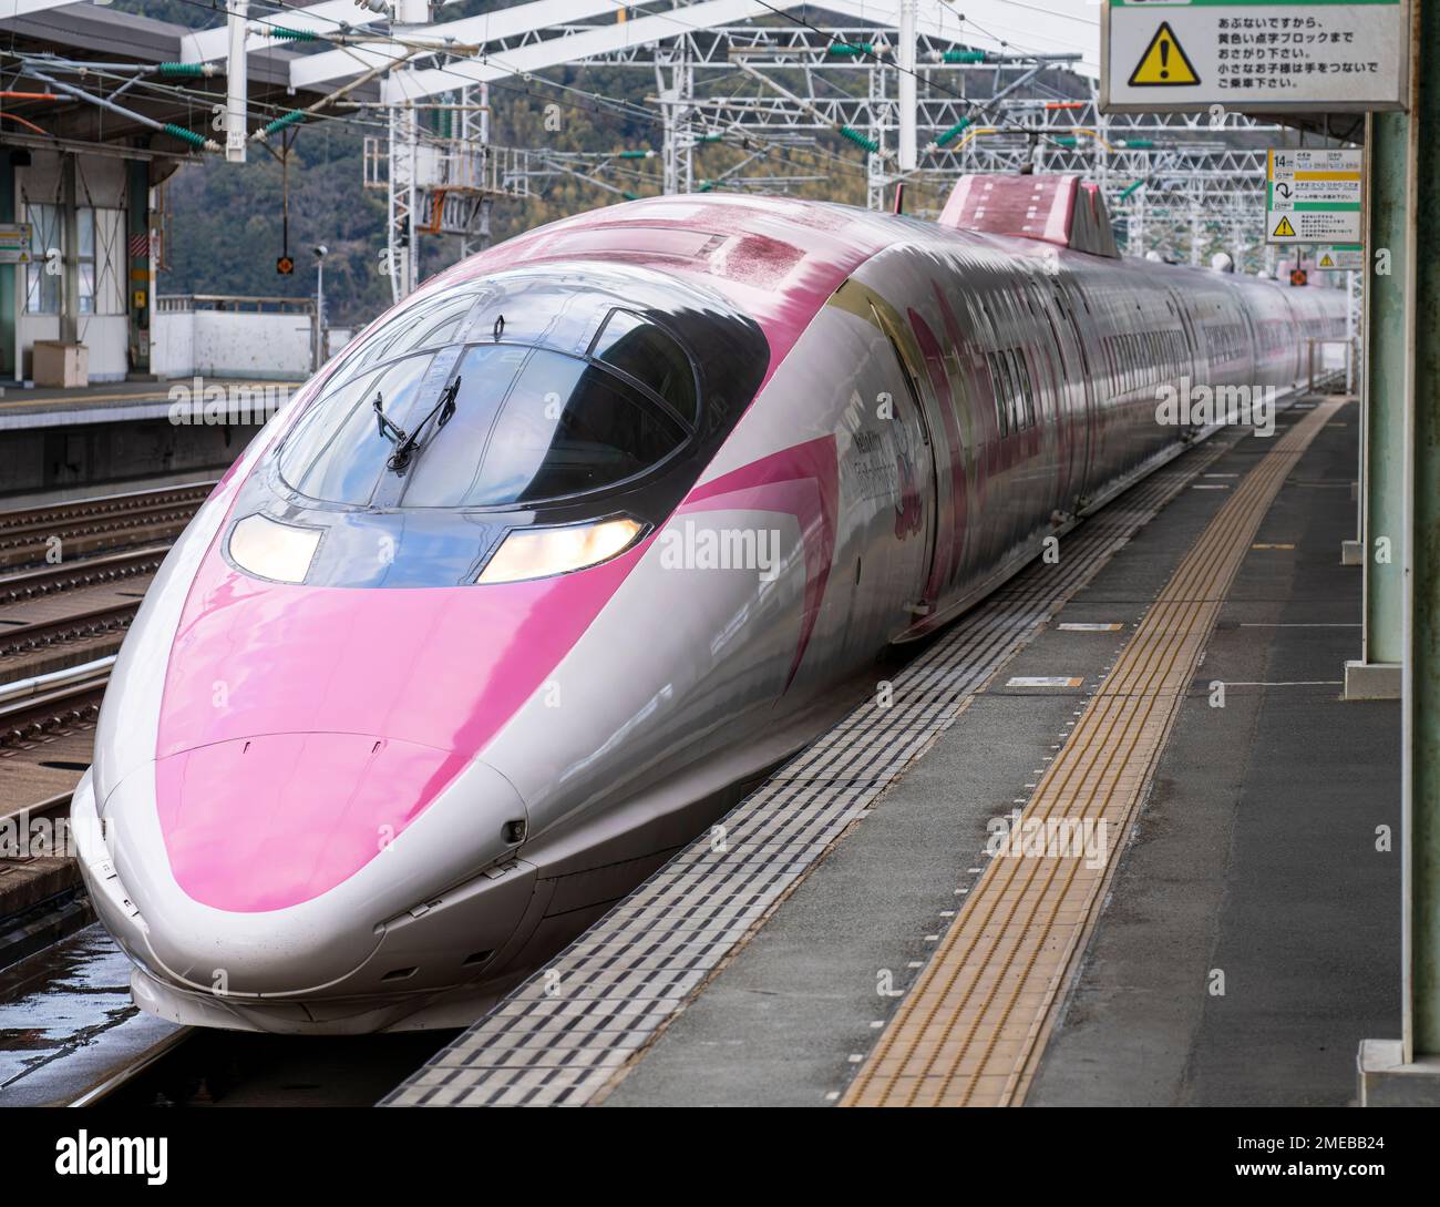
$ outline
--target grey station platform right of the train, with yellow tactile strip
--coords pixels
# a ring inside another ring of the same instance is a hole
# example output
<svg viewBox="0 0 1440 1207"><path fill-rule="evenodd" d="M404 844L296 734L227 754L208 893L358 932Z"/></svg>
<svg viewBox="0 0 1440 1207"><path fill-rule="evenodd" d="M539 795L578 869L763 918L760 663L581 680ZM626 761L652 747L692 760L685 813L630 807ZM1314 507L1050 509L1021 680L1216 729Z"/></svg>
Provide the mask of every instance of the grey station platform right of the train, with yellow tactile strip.
<svg viewBox="0 0 1440 1207"><path fill-rule="evenodd" d="M1358 436L1152 474L383 1105L1352 1102L1401 966Z"/></svg>

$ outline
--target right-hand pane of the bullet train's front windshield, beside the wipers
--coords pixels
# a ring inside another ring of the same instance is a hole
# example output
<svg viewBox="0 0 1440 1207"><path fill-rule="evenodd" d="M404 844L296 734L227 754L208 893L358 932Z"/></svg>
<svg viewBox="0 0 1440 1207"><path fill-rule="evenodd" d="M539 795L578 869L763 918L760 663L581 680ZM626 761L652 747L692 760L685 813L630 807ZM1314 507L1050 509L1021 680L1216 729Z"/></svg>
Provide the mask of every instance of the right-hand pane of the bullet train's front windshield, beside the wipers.
<svg viewBox="0 0 1440 1207"><path fill-rule="evenodd" d="M664 461L685 429L649 396L596 363L547 349L481 344L459 366L455 416L475 406L472 439L435 438L416 459L406 507L534 504L615 485ZM503 382L495 399L492 382ZM475 393L467 399L465 383ZM487 426L487 416L492 425ZM481 429L488 438L481 448ZM446 448L454 442L459 448ZM445 455L436 455L446 449Z"/></svg>

